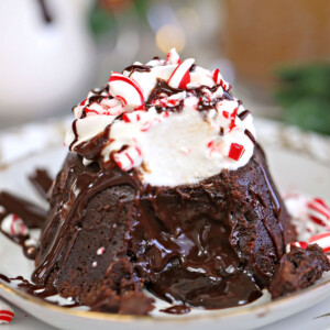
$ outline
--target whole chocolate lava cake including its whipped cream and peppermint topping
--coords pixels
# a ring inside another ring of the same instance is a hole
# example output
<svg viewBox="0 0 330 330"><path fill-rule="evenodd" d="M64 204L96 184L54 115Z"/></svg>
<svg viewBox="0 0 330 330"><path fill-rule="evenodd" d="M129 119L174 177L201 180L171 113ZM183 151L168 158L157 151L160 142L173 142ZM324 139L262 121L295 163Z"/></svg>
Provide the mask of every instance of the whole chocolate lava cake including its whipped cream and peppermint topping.
<svg viewBox="0 0 330 330"><path fill-rule="evenodd" d="M255 300L295 240L252 116L173 50L76 108L32 276L92 310Z"/></svg>

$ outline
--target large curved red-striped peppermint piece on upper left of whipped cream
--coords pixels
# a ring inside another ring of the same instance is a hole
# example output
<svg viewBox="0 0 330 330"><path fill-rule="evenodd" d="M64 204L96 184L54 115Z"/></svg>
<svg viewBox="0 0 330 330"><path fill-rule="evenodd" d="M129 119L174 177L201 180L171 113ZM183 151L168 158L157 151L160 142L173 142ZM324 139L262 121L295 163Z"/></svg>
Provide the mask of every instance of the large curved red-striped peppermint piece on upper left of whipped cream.
<svg viewBox="0 0 330 330"><path fill-rule="evenodd" d="M119 99L125 110L144 109L144 95L140 85L119 73L112 73L109 78L110 95Z"/></svg>

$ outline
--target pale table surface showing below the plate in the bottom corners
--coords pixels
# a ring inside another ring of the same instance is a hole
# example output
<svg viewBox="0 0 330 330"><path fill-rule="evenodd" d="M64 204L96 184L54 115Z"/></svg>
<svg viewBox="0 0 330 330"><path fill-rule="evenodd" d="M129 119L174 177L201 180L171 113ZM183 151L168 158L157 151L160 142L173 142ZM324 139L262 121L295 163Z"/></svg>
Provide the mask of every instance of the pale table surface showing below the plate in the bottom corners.
<svg viewBox="0 0 330 330"><path fill-rule="evenodd" d="M15 312L14 319L9 324L0 326L1 330L54 330L56 329L56 324L54 324L54 327L45 324L44 322L38 321L34 317L28 315L26 312L24 312L23 310L16 307L13 307L13 310ZM324 316L327 314L329 314L329 316ZM109 329L111 329L111 326L109 327ZM282 321L275 322L273 324L260 329L267 329L267 330L330 329L330 298L323 300L322 302L316 305L312 308L309 308L295 316L292 316Z"/></svg>

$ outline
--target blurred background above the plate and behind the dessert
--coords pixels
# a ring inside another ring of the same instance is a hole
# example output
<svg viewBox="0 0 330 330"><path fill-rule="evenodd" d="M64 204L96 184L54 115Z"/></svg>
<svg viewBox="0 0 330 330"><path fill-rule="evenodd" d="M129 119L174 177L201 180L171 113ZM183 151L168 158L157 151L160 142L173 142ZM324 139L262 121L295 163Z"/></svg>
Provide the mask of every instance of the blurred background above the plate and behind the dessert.
<svg viewBox="0 0 330 330"><path fill-rule="evenodd" d="M255 114L330 134L329 0L1 0L0 129L70 113L176 47Z"/></svg>

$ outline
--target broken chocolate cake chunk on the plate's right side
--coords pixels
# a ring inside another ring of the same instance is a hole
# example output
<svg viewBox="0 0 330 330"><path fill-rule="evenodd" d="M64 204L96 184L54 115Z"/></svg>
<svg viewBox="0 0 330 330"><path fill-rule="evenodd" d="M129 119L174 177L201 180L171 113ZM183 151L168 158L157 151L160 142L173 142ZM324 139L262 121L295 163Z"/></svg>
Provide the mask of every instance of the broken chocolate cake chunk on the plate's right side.
<svg viewBox="0 0 330 330"><path fill-rule="evenodd" d="M292 246L282 257L268 290L275 299L312 285L328 271L330 262L318 244L308 245L306 250Z"/></svg>

